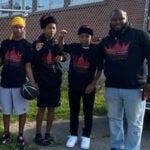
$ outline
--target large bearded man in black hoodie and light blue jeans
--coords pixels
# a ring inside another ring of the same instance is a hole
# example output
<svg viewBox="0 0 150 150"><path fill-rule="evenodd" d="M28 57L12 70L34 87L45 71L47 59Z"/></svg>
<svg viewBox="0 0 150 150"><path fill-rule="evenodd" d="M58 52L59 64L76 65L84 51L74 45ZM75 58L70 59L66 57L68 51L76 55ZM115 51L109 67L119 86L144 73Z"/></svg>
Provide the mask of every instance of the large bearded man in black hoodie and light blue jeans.
<svg viewBox="0 0 150 150"><path fill-rule="evenodd" d="M109 35L100 43L105 60L105 99L110 126L111 150L140 150L144 96L149 96L150 76L146 80L145 58L150 66L150 37L131 27L127 13L115 9L110 15ZM143 94L144 89L144 94ZM128 131L124 141L123 116Z"/></svg>

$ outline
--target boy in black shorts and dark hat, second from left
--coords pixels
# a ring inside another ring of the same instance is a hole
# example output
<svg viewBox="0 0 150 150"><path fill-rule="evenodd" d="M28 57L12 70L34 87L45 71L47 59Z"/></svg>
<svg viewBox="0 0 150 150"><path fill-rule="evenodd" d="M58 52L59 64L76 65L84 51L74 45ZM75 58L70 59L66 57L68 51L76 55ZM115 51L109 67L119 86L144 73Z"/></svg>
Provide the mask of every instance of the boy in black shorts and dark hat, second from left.
<svg viewBox="0 0 150 150"><path fill-rule="evenodd" d="M33 43L33 70L35 80L39 85L40 95L37 99L38 112L36 116L35 143L46 146L53 142L50 135L54 120L55 107L60 105L60 85L62 73L57 66L60 53L57 49L56 34L57 21L53 16L43 15L40 19L43 33ZM47 108L47 124L45 137L42 137L41 128L44 112Z"/></svg>

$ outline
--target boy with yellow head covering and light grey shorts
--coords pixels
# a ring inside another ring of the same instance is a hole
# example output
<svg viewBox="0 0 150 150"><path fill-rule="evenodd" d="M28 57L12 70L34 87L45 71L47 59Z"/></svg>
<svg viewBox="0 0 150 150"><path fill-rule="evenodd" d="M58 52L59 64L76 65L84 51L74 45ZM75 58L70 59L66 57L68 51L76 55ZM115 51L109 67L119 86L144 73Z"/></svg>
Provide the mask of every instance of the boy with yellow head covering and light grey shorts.
<svg viewBox="0 0 150 150"><path fill-rule="evenodd" d="M25 26L26 22L23 18L13 18L12 36L4 40L0 48L0 65L3 65L0 100L4 123L4 135L0 139L0 144L6 144L10 139L10 114L14 111L19 115L17 141L20 148L24 147L23 131L29 109L28 101L20 94L20 87L26 82L26 75L30 81L34 81L30 63L32 45L23 38Z"/></svg>

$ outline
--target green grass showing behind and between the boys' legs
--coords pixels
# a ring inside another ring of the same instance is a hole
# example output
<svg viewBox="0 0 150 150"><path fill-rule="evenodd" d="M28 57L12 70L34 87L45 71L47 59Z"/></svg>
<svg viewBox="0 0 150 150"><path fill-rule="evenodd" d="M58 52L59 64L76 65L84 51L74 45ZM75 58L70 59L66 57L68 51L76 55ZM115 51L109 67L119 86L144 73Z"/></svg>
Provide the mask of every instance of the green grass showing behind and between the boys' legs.
<svg viewBox="0 0 150 150"><path fill-rule="evenodd" d="M61 106L56 108L56 110L55 110L55 120L69 119L69 105L68 105L67 90L63 90L61 95L62 95ZM107 113L103 95L104 95L103 90L98 91L96 93L96 99L95 99L95 104L94 104L94 116L104 116ZM37 112L36 100L33 100L30 102L30 111L27 115L28 122L35 121L36 112ZM80 115L82 116L82 114L83 113L81 111ZM44 120L45 120L45 118L44 118ZM2 113L0 113L0 120L2 120ZM11 123L15 123L16 121L18 121L18 117L16 115L12 115ZM3 123L1 121L0 122L0 136L2 136L2 132L3 132ZM12 136L11 142L5 146L0 146L0 150L1 149L2 150L17 150L18 149L17 145L16 145L16 141L15 141L17 138L17 133L11 134L11 136ZM35 150L35 148L31 147L30 145L27 145L25 150Z"/></svg>

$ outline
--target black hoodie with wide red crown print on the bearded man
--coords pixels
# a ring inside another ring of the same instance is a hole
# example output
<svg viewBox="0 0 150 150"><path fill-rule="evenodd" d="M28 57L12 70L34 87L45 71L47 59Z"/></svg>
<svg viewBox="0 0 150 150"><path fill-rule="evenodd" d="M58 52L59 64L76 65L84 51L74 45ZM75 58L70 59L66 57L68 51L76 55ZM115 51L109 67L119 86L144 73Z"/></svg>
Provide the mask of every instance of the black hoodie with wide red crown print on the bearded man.
<svg viewBox="0 0 150 150"><path fill-rule="evenodd" d="M106 87L137 89L146 83L145 58L150 66L148 33L128 24L120 31L111 29L100 43L100 52L105 60Z"/></svg>

